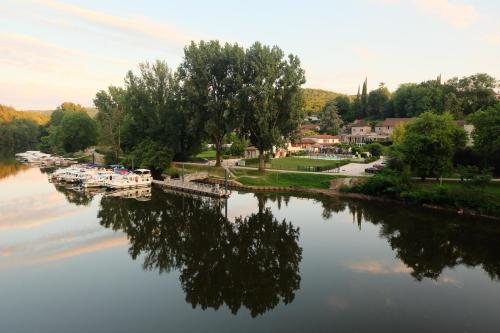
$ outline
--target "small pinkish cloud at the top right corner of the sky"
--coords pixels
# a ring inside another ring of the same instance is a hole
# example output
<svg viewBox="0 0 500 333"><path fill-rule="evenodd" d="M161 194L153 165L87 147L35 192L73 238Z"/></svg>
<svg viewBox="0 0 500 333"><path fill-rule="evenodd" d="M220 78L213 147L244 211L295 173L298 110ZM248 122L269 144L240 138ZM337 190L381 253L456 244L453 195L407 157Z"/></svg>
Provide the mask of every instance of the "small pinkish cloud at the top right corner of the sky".
<svg viewBox="0 0 500 333"><path fill-rule="evenodd" d="M415 0L421 11L440 17L456 28L466 28L479 20L472 5L452 3L449 0Z"/></svg>

